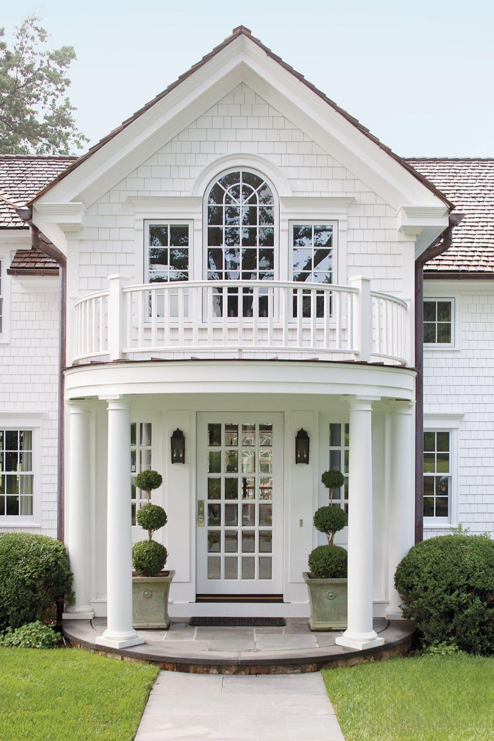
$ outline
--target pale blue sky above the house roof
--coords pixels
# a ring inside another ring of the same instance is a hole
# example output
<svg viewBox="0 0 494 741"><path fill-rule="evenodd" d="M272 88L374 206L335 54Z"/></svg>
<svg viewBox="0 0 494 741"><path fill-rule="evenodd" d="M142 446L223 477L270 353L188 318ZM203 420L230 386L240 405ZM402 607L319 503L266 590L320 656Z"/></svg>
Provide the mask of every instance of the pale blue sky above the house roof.
<svg viewBox="0 0 494 741"><path fill-rule="evenodd" d="M404 156L494 156L494 3L470 0L67 0L38 13L72 44L70 97L96 142L244 24Z"/></svg>

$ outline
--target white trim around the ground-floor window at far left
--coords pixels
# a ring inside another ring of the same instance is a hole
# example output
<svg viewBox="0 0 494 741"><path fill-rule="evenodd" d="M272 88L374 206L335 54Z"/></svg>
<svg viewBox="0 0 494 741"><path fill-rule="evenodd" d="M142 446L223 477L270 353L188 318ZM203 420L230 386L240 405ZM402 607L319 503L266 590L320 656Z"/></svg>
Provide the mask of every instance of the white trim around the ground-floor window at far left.
<svg viewBox="0 0 494 741"><path fill-rule="evenodd" d="M2 430L30 430L33 433L33 514L0 515L0 528L41 527L41 420L45 413L0 413Z"/></svg>

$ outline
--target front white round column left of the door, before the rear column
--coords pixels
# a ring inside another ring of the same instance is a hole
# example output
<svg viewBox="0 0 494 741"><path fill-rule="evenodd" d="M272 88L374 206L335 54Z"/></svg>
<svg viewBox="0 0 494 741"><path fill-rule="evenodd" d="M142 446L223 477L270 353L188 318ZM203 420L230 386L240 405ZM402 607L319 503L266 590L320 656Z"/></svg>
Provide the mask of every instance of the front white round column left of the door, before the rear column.
<svg viewBox="0 0 494 741"><path fill-rule="evenodd" d="M107 629L96 643L113 648L144 643L132 627L130 403L108 399Z"/></svg>

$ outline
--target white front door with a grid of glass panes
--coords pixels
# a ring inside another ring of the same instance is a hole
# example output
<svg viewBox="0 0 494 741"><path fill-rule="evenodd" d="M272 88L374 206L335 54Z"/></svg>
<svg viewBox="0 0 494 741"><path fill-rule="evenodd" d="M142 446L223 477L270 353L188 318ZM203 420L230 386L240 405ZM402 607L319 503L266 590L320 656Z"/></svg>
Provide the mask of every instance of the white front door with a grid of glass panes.
<svg viewBox="0 0 494 741"><path fill-rule="evenodd" d="M197 594L283 592L283 415L198 414Z"/></svg>

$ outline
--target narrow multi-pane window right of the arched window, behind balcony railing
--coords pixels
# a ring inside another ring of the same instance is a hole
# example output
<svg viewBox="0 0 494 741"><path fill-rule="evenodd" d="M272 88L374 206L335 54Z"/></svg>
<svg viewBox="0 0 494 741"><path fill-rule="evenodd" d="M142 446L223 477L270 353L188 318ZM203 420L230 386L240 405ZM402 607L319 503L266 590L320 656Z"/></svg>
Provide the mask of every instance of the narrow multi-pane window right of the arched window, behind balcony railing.
<svg viewBox="0 0 494 741"><path fill-rule="evenodd" d="M333 283L333 225L294 224L292 239L293 280L303 283ZM293 316L297 316L296 292ZM310 291L302 298L302 314L310 316ZM324 316L324 293L316 293L316 316Z"/></svg>

